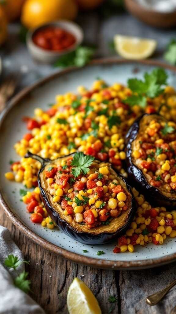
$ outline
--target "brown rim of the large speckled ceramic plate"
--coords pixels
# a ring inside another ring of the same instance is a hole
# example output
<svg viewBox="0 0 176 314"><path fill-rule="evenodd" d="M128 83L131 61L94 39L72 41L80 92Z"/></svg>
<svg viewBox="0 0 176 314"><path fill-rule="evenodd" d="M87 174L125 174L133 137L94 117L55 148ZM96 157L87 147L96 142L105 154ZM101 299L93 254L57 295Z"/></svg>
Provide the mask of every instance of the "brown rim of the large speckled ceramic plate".
<svg viewBox="0 0 176 314"><path fill-rule="evenodd" d="M136 65L137 64L143 64L143 65L148 65L148 66L162 67L162 68L165 68L168 70L172 70L176 73L176 67L175 66L165 64L165 63L160 62L158 60L124 60L124 59L119 59L116 57L94 59L88 65L86 65L84 68L87 68L87 67L92 66L92 65L128 64L128 63L134 63L134 64L136 63ZM14 106L18 105L18 102L23 100L23 98L25 98L28 94L30 94L31 91L38 89L40 86L48 83L49 81L53 80L54 78L61 77L63 74L72 73L72 72L76 72L79 70L80 70L80 68L77 68L77 67L67 68L67 69L64 69L62 71L58 71L54 74L51 74L51 75L33 83L33 84L31 84L29 87L25 87L24 89L22 89L17 95L15 95L13 97L13 99L9 102L8 107L1 114L0 132L1 132L1 127L3 125L3 121L7 117L8 112ZM68 260L75 262L75 263L84 264L86 266L94 267L94 268L104 268L104 269L114 269L114 270L119 270L119 269L121 269L121 270L132 270L132 269L145 269L145 268L162 266L164 264L171 263L171 262L174 262L176 260L176 253L169 254L168 256L163 256L163 257L159 257L159 258L140 260L140 261L113 261L113 260L104 260L104 259L86 257L84 255L70 252L66 249L63 249L59 246L56 246L53 243L43 239L41 236L37 235L34 231L30 230L30 228L28 228L28 226L26 226L18 218L18 216L13 213L11 208L5 202L1 191L0 191L0 205L2 206L5 214L12 221L12 223L20 231L22 231L23 234L25 236L27 236L30 240L32 240L35 243L37 243L38 245L42 246L45 250L48 250L51 253L59 255L65 259L68 259Z"/></svg>

